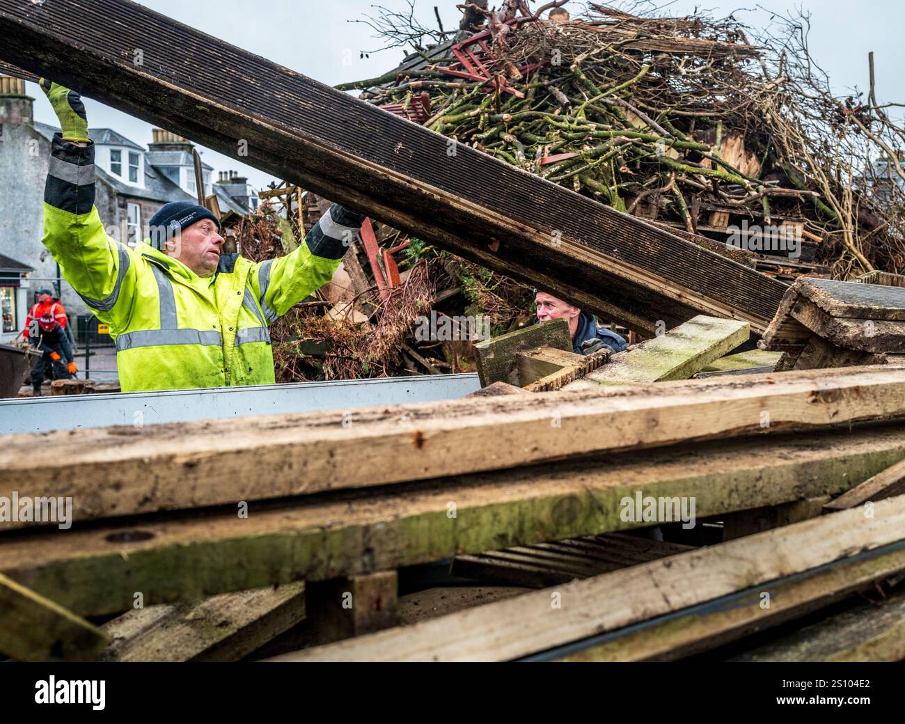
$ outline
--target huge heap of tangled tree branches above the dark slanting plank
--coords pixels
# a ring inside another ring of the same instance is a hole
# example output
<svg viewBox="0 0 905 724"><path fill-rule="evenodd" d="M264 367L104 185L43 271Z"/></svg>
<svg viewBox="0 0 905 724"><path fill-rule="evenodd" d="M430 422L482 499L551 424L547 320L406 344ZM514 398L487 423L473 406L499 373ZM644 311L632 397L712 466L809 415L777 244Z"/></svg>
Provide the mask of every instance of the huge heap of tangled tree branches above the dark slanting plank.
<svg viewBox="0 0 905 724"><path fill-rule="evenodd" d="M445 42L427 48L413 41L423 27L381 9L370 24L386 46L415 53L338 87L690 233L723 241L729 222L793 224L812 246L805 258L836 277L905 267L905 130L877 103L872 60L866 100L834 95L806 16L776 16L749 41L732 16L591 5L550 20L524 2L479 5L465 6L485 20L478 34L438 31Z"/></svg>

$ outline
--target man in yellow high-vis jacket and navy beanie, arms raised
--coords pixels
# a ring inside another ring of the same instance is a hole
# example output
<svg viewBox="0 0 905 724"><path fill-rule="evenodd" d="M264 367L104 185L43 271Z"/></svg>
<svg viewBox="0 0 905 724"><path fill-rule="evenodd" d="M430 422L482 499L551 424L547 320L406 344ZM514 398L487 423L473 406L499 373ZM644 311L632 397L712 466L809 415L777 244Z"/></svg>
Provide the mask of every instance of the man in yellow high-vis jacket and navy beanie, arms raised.
<svg viewBox="0 0 905 724"><path fill-rule="evenodd" d="M272 384L268 326L325 284L361 226L334 204L300 247L252 262L222 254L204 206L165 205L151 243L129 248L104 232L94 206L94 146L78 93L41 81L60 119L44 189L43 243L116 340L123 392Z"/></svg>

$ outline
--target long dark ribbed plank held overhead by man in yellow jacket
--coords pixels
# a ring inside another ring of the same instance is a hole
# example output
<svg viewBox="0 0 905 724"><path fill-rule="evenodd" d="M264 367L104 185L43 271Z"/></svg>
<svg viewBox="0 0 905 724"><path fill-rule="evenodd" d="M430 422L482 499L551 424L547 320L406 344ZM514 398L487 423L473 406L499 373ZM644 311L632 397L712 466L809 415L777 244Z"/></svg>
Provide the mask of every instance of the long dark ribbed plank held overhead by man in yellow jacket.
<svg viewBox="0 0 905 724"><path fill-rule="evenodd" d="M127 0L0 0L0 35L25 71L632 329L705 313L762 331L786 289Z"/></svg>

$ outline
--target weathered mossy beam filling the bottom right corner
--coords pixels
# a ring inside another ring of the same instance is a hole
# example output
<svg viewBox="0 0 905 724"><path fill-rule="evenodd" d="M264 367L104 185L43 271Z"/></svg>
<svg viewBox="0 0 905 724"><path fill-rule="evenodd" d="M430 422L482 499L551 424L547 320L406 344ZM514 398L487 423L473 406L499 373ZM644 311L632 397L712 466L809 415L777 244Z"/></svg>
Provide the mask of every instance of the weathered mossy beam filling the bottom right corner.
<svg viewBox="0 0 905 724"><path fill-rule="evenodd" d="M734 656L736 662L900 662L905 659L905 592L862 603L776 641Z"/></svg>

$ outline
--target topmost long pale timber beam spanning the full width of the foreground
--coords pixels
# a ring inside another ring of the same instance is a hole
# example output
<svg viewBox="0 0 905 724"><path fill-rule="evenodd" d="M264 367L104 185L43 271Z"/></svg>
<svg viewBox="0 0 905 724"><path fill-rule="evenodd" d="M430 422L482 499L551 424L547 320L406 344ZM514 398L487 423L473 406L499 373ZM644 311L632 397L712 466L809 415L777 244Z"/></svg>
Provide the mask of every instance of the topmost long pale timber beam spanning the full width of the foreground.
<svg viewBox="0 0 905 724"><path fill-rule="evenodd" d="M599 386L598 386L599 387ZM905 414L905 369L786 372L5 438L0 504L76 521L518 467L567 455ZM28 522L9 515L0 531ZM248 586L253 587L253 586Z"/></svg>

